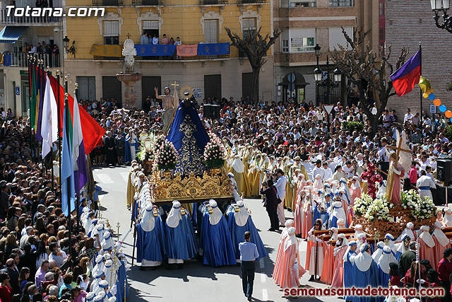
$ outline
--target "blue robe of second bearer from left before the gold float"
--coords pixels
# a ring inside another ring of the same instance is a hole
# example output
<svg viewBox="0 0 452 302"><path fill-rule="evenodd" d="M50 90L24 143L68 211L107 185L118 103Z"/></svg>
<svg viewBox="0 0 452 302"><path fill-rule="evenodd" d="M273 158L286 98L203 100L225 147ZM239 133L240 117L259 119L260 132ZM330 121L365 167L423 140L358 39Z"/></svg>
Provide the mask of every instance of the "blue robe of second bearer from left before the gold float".
<svg viewBox="0 0 452 302"><path fill-rule="evenodd" d="M196 256L198 243L188 213L182 215L182 219L175 228L166 223L165 230L168 258L189 260Z"/></svg>

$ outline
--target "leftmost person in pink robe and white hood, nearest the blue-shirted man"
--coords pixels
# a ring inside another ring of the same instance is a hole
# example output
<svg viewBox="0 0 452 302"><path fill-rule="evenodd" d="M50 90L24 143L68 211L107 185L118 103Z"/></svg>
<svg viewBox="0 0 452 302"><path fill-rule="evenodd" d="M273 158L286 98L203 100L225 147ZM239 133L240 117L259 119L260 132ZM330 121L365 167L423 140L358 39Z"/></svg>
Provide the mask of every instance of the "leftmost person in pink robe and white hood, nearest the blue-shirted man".
<svg viewBox="0 0 452 302"><path fill-rule="evenodd" d="M299 239L295 237L295 228L287 229L287 237L283 240L281 257L278 262L278 270L273 270L273 279L283 289L297 288L299 279L306 273L306 270L300 265L299 259Z"/></svg>

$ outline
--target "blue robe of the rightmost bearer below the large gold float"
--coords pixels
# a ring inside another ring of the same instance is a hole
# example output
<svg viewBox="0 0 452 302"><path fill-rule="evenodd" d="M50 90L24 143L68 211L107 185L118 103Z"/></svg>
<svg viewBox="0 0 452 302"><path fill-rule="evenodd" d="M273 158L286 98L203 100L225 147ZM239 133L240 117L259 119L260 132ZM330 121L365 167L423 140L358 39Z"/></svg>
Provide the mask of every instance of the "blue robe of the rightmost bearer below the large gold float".
<svg viewBox="0 0 452 302"><path fill-rule="evenodd" d="M240 259L239 243L245 242L244 233L246 231L249 231L251 233L251 238L249 239L249 241L257 246L259 257L256 260L266 257L268 255L266 247L263 245L261 236L259 236L259 233L256 229L256 226L254 226L254 222L253 219L251 219L251 216L248 215L248 220L246 221L244 226L239 226L237 225L234 214L234 207L230 207L230 209L227 210L227 223L229 224L229 229L231 231L231 239L232 246L234 247L235 259Z"/></svg>

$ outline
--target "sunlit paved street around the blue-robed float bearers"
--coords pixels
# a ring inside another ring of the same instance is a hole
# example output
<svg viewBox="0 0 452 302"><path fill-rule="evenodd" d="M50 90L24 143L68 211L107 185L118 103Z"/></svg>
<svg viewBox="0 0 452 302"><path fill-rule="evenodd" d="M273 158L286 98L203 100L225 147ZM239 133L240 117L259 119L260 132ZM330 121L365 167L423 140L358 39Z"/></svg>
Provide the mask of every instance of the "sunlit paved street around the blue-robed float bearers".
<svg viewBox="0 0 452 302"><path fill-rule="evenodd" d="M102 187L100 204L102 216L116 230L117 222L121 223L120 237L129 230L130 211L126 208L126 189L129 167L96 168L94 178ZM271 274L278 252L280 234L266 231L269 227L268 216L260 199L246 199L246 207L251 209L253 221L260 231L266 245L268 257L256 263L254 280L254 301L287 301L294 298L283 297L283 291L275 285ZM292 218L292 214L286 212ZM302 265L306 255L306 242L302 243ZM126 238L123 245L129 265L133 248L133 233ZM242 293L242 280L238 266L208 267L196 260L186 262L184 269L169 271L162 265L155 271L141 272L139 266L131 267L128 272L131 284L129 302L136 301L246 301ZM322 287L324 284L308 282L305 274L301 283L304 287ZM339 298L300 297L302 301L343 301Z"/></svg>

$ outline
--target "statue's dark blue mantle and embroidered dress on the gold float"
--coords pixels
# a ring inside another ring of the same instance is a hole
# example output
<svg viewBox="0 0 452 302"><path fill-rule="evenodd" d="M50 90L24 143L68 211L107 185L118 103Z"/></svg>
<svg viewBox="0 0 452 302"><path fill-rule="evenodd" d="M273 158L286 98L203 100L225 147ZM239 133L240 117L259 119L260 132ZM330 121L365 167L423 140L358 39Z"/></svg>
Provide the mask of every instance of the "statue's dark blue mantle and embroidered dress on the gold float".
<svg viewBox="0 0 452 302"><path fill-rule="evenodd" d="M179 153L175 172L182 177L191 173L202 176L206 170L204 149L210 139L193 102L185 100L179 104L167 140Z"/></svg>

